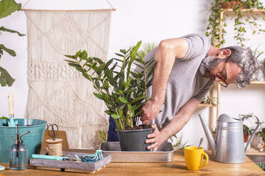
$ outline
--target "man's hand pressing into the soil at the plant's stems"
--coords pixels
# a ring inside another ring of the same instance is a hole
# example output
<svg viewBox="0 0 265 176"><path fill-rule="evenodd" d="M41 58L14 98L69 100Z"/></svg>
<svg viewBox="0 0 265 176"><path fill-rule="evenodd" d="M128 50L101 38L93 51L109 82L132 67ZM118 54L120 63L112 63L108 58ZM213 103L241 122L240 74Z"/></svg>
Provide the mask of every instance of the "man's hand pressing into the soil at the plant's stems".
<svg viewBox="0 0 265 176"><path fill-rule="evenodd" d="M152 121L152 119L155 119L155 116L160 111L162 105L157 103L156 101L153 101L152 99L146 101L144 106L142 106L142 112L140 114L142 124L146 125Z"/></svg>

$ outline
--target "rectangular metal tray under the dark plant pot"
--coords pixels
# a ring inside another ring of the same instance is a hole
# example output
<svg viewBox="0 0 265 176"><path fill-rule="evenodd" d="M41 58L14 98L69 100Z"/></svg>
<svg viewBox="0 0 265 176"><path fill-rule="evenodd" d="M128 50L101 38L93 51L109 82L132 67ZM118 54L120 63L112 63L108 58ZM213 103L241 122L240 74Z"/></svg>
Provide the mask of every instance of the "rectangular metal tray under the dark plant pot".
<svg viewBox="0 0 265 176"><path fill-rule="evenodd" d="M173 161L172 143L165 142L155 152L121 151L119 142L100 144L103 154L111 155L111 162L164 163Z"/></svg>

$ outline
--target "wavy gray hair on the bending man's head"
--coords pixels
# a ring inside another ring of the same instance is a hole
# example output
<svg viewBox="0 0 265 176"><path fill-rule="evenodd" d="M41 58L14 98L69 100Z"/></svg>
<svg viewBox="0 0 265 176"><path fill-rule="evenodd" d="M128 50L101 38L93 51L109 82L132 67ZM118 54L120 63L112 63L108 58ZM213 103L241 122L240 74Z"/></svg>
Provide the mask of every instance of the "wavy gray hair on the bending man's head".
<svg viewBox="0 0 265 176"><path fill-rule="evenodd" d="M229 46L224 49L231 50L231 55L228 57L228 62L233 62L241 67L241 72L235 80L237 87L246 87L246 84L250 84L252 75L256 71L256 59L251 52L250 48L243 48L240 46Z"/></svg>

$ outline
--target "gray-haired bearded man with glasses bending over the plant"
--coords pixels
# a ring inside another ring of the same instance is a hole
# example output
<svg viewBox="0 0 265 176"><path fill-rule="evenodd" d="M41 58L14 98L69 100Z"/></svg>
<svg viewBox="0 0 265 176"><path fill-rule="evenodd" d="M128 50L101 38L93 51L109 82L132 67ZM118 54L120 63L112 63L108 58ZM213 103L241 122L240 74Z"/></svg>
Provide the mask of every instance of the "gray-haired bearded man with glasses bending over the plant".
<svg viewBox="0 0 265 176"><path fill-rule="evenodd" d="M154 151L185 126L214 81L245 87L256 69L249 48L217 48L199 34L162 40L144 59L151 58L156 61L152 97L142 107L141 121L153 123L145 142Z"/></svg>

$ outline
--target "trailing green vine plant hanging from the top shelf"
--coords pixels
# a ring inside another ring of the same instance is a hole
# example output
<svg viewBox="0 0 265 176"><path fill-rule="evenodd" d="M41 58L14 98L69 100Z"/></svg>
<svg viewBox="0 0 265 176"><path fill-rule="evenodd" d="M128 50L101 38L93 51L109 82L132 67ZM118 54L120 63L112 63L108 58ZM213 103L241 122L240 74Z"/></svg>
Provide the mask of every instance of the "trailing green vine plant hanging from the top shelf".
<svg viewBox="0 0 265 176"><path fill-rule="evenodd" d="M246 23L251 26L252 34L264 33L263 26L257 23L257 18L255 16L244 16L241 13L241 9L244 6L246 9L250 9L249 13L252 13L253 9L264 9L264 6L259 0L246 0L246 1L237 1L233 2L234 5L231 5L232 1L229 0L214 0L209 6L211 14L208 18L207 32L206 35L211 37L212 45L219 47L225 43L224 34L227 33L225 27L226 16L221 16L222 11L232 9L234 11L234 39L237 40L237 44L244 46L246 40ZM226 5L228 4L228 5ZM265 18L263 18L265 20ZM224 23L222 31L220 31L220 23Z"/></svg>

